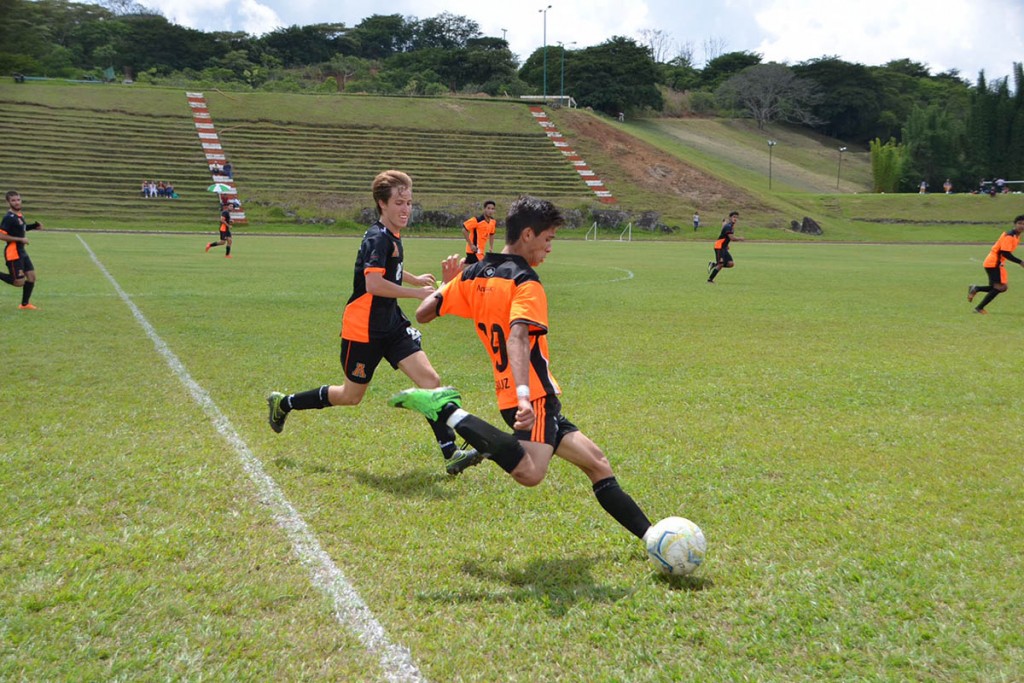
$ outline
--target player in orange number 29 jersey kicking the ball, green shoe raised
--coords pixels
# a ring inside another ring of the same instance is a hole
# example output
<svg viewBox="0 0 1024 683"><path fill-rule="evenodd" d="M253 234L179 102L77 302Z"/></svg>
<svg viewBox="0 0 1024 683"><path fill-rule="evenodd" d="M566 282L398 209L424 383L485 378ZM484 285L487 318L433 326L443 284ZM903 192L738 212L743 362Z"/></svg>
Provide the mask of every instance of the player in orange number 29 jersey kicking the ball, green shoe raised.
<svg viewBox="0 0 1024 683"><path fill-rule="evenodd" d="M562 222L550 202L519 198L509 208L502 253L462 270L459 257L450 256L441 264L445 284L416 311L420 323L438 315L473 321L493 361L498 408L514 435L462 410L452 387L407 389L388 402L446 423L524 486L544 480L552 456L567 460L590 478L601 507L643 539L650 520L620 487L601 449L562 415L561 390L549 371L548 300L534 266L551 252Z"/></svg>

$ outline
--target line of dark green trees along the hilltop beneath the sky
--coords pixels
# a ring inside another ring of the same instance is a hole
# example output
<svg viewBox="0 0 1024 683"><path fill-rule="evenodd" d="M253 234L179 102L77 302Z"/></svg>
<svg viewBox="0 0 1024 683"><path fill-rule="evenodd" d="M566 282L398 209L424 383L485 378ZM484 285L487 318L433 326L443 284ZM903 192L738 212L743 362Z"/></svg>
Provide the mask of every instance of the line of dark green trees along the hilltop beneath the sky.
<svg viewBox="0 0 1024 683"><path fill-rule="evenodd" d="M440 96L571 95L609 115L749 117L870 148L878 191L958 189L1024 178L1024 71L972 84L909 59L880 67L822 56L765 63L748 52L670 55L669 36L641 32L582 49L539 47L521 65L508 43L449 12L373 14L262 36L177 26L134 0L0 0L0 73L133 79L190 87ZM546 54L545 54L546 51ZM547 73L544 63L547 61ZM884 162L884 163L883 163Z"/></svg>

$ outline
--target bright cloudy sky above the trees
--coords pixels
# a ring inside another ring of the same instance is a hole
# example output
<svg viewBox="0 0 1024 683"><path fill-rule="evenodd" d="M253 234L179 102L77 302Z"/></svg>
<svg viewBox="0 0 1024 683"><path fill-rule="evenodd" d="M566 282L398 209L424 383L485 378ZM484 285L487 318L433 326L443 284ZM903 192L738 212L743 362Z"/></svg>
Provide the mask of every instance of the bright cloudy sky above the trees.
<svg viewBox="0 0 1024 683"><path fill-rule="evenodd" d="M669 52L689 46L700 67L708 55L746 50L765 61L796 63L824 55L882 65L909 58L933 74L956 69L970 81L988 80L1024 61L1024 0L161 0L182 26L262 35L279 27L343 22L372 14L417 18L447 11L467 16L487 36L504 36L525 59L544 44L580 49L611 36L641 39L644 30L668 37ZM545 15L541 9L551 5ZM641 41L642 42L642 41Z"/></svg>

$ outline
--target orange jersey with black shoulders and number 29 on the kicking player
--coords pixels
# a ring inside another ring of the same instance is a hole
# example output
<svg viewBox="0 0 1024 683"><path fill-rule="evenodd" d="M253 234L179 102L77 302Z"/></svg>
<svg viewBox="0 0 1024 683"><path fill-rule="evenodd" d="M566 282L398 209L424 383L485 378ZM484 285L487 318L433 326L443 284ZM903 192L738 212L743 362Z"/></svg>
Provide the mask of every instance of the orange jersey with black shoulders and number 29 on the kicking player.
<svg viewBox="0 0 1024 683"><path fill-rule="evenodd" d="M524 258L487 254L441 287L437 297L439 315L476 324L476 334L490 354L499 409L518 404L507 346L513 325L528 326L530 400L561 393L548 361L548 295Z"/></svg>

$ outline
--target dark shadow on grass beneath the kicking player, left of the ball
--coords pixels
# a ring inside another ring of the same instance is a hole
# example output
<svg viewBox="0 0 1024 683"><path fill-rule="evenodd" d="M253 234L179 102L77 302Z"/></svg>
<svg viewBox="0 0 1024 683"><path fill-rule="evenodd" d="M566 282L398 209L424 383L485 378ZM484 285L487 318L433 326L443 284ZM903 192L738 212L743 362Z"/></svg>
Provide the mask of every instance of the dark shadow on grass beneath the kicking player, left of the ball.
<svg viewBox="0 0 1024 683"><path fill-rule="evenodd" d="M433 602L538 602L552 616L565 615L578 602L616 602L632 588L598 586L591 574L597 558L574 557L532 560L522 569L496 569L492 563L467 561L464 573L492 584L507 584L500 591L441 591L421 597Z"/></svg>

